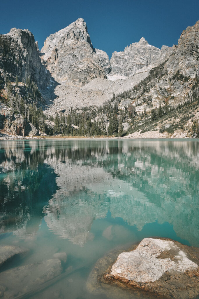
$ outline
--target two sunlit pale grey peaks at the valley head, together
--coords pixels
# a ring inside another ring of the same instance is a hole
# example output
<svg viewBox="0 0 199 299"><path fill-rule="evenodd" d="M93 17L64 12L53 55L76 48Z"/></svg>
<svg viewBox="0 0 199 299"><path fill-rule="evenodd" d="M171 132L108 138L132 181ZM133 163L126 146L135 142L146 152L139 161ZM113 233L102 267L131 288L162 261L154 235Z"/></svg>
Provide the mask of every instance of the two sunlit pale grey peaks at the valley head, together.
<svg viewBox="0 0 199 299"><path fill-rule="evenodd" d="M41 58L58 82L75 85L84 82L84 85L96 77L106 78L109 73L134 75L141 68L154 66L160 53L160 49L149 45L142 37L139 42L127 46L124 52L114 52L109 60L106 52L93 48L86 23L78 19L47 37Z"/></svg>

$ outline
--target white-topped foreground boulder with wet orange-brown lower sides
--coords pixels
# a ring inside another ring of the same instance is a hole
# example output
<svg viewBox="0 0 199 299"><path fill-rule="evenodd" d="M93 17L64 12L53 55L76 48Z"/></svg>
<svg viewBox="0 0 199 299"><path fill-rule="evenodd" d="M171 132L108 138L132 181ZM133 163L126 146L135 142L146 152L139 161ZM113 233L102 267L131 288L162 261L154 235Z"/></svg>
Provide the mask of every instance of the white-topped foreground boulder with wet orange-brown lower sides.
<svg viewBox="0 0 199 299"><path fill-rule="evenodd" d="M197 253L198 248L171 239L145 238L119 254L103 278L166 298L194 298L199 294Z"/></svg>

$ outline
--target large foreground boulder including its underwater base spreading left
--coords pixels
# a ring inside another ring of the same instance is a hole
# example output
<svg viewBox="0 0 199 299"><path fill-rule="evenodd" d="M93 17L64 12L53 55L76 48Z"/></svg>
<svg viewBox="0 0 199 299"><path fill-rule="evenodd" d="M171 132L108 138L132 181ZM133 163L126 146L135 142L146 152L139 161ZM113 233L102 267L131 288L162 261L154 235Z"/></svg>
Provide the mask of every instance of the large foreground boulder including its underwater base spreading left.
<svg viewBox="0 0 199 299"><path fill-rule="evenodd" d="M145 238L99 259L87 290L112 299L195 298L199 294L198 256L199 248L167 238Z"/></svg>

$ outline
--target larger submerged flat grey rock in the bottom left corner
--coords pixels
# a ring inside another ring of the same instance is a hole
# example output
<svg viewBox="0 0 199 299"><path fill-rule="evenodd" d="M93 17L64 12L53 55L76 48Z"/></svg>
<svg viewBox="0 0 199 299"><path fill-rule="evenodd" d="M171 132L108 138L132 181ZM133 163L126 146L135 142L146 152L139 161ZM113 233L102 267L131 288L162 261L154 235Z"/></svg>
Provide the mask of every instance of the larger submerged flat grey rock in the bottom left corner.
<svg viewBox="0 0 199 299"><path fill-rule="evenodd" d="M3 271L0 273L2 290L6 290L3 298L22 296L37 290L39 286L60 275L61 272L59 259L45 260Z"/></svg>

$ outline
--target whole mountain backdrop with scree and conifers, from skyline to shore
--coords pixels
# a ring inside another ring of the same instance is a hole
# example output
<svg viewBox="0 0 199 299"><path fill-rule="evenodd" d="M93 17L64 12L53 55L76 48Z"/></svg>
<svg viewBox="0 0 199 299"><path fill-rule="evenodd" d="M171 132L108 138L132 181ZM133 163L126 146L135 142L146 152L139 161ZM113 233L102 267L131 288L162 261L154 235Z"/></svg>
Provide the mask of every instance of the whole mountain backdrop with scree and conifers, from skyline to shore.
<svg viewBox="0 0 199 299"><path fill-rule="evenodd" d="M0 36L2 138L197 138L198 46L199 21L178 45L158 49L142 37L110 60L81 18L47 37L41 51L30 31L13 28Z"/></svg>

